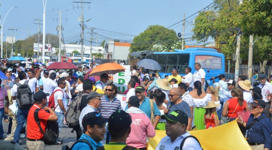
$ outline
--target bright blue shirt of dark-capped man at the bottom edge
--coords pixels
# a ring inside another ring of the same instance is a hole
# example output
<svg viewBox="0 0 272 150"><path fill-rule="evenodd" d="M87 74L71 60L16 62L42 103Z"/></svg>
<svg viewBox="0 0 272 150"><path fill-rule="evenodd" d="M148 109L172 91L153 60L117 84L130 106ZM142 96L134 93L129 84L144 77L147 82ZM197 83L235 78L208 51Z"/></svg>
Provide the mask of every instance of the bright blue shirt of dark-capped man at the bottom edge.
<svg viewBox="0 0 272 150"><path fill-rule="evenodd" d="M93 147L93 149L97 149L98 147L102 146L101 142L96 143L90 136L86 134L82 134L79 139L85 139L89 141ZM72 150L83 150L83 149L90 149L89 145L83 142L78 142L74 145Z"/></svg>

